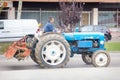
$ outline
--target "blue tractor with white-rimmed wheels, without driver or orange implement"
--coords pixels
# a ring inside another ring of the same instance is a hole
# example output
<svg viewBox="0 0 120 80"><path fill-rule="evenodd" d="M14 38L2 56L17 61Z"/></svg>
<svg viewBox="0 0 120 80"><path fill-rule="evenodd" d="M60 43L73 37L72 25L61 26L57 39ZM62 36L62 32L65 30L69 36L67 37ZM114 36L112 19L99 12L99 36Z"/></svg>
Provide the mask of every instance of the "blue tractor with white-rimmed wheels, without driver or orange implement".
<svg viewBox="0 0 120 80"><path fill-rule="evenodd" d="M110 55L104 40L104 34L99 32L44 33L30 42L30 56L43 68L64 67L74 54L81 54L86 64L107 67Z"/></svg>

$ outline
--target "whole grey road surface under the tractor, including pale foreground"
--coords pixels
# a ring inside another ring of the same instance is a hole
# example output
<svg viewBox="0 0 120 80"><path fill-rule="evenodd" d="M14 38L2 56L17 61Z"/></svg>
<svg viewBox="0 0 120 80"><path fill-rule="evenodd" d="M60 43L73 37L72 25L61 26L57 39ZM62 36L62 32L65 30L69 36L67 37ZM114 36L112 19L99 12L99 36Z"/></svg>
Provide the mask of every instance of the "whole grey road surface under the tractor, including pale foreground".
<svg viewBox="0 0 120 80"><path fill-rule="evenodd" d="M110 53L106 68L86 65L81 55L71 58L65 68L42 69L30 58L6 60L0 56L0 80L120 80L120 53Z"/></svg>

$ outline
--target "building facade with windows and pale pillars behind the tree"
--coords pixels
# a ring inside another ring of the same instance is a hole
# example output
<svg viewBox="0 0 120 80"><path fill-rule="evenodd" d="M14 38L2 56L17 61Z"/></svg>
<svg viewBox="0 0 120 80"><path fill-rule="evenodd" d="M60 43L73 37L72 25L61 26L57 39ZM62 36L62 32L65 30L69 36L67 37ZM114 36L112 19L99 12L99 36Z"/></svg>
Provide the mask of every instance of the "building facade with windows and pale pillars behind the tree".
<svg viewBox="0 0 120 80"><path fill-rule="evenodd" d="M18 13L18 1L6 1L7 6L2 9L0 19L16 19ZM58 16L60 14L59 1L70 0L22 0L22 19L36 19L43 25L49 16L55 17L55 26L58 26ZM72 0L71 0L72 1ZM108 27L120 27L120 0L74 0L81 2L83 12L81 25L106 25ZM11 4L11 6L10 6ZM9 6L8 6L9 5Z"/></svg>

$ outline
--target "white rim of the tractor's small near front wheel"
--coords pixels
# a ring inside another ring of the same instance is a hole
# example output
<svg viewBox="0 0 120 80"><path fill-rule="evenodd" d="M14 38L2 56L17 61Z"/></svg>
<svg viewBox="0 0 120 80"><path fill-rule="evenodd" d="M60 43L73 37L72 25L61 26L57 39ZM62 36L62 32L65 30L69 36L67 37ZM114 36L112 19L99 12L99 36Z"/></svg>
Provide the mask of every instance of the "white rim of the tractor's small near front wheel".
<svg viewBox="0 0 120 80"><path fill-rule="evenodd" d="M95 62L98 66L105 66L108 62L108 57L104 53L99 53L95 58Z"/></svg>

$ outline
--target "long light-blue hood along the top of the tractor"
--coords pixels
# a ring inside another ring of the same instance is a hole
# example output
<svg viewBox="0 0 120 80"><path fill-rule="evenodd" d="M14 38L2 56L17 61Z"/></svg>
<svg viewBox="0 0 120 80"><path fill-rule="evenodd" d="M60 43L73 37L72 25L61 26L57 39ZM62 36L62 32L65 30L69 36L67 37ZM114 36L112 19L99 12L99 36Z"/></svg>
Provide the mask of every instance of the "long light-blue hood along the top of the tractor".
<svg viewBox="0 0 120 80"><path fill-rule="evenodd" d="M104 34L100 32L73 32L63 33L67 41L85 40L85 39L100 39L104 41Z"/></svg>

